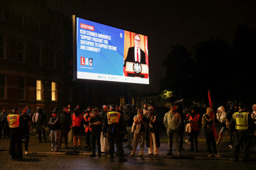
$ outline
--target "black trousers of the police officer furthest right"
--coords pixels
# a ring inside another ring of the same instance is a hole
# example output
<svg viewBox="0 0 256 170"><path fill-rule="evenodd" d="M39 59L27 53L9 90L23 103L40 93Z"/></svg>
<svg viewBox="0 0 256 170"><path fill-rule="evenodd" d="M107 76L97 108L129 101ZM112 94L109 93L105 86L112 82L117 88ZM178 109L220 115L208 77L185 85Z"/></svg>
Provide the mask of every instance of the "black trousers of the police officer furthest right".
<svg viewBox="0 0 256 170"><path fill-rule="evenodd" d="M248 160L250 157L250 135L247 130L238 130L237 135L234 135L234 144L232 155L233 158L238 160L238 153L240 147L242 147L242 158L244 161Z"/></svg>

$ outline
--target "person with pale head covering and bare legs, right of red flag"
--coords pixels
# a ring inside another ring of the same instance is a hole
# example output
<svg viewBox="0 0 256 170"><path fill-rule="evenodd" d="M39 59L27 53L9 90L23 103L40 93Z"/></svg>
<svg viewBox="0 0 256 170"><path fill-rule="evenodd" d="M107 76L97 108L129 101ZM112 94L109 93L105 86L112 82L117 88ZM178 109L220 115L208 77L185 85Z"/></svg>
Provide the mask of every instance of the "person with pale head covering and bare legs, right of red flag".
<svg viewBox="0 0 256 170"><path fill-rule="evenodd" d="M217 142L217 145L219 145L224 132L226 132L226 134L229 137L229 131L227 129L227 121L225 119L226 112L225 112L225 108L223 106L218 108L216 117L219 120L219 122L221 123L221 127L222 127L220 130L220 133L219 133L219 140Z"/></svg>

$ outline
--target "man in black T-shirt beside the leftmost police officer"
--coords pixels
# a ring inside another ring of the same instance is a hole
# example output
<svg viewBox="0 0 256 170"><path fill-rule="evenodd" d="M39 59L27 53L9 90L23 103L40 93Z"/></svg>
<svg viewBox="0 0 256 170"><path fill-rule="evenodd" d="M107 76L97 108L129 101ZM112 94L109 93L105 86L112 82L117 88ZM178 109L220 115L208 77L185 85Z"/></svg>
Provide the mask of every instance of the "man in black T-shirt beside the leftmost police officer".
<svg viewBox="0 0 256 170"><path fill-rule="evenodd" d="M31 130L31 117L27 114L27 109L22 110L23 123L21 124L21 131L23 135L29 135ZM28 142L25 143L25 155L28 154Z"/></svg>

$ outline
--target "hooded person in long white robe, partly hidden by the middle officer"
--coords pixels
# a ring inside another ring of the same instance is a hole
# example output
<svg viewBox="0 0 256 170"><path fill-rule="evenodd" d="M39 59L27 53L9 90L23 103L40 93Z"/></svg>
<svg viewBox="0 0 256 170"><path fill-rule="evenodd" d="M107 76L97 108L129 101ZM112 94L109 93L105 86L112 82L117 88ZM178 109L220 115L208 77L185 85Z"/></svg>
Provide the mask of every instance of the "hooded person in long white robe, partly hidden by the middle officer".
<svg viewBox="0 0 256 170"><path fill-rule="evenodd" d="M106 105L103 105L101 107L101 112L99 113L99 116L101 117L102 122L104 122L104 117L107 114L107 110L108 108ZM101 123L100 125L101 125L101 135L100 135L101 152L106 152L109 150L108 138L107 137L103 138L103 131L102 131L103 123Z"/></svg>

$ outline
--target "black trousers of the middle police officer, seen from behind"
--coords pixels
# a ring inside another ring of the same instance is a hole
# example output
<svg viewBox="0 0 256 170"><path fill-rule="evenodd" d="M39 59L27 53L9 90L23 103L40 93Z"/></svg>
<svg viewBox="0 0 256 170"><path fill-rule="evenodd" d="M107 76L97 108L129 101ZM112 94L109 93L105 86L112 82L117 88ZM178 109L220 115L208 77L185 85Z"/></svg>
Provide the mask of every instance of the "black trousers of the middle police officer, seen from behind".
<svg viewBox="0 0 256 170"><path fill-rule="evenodd" d="M112 133L112 128L108 129L108 142L109 142L109 155L114 156L114 143L117 149L116 156L122 156L124 154L123 142L121 141L121 131L119 129L115 129Z"/></svg>

